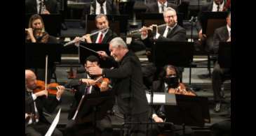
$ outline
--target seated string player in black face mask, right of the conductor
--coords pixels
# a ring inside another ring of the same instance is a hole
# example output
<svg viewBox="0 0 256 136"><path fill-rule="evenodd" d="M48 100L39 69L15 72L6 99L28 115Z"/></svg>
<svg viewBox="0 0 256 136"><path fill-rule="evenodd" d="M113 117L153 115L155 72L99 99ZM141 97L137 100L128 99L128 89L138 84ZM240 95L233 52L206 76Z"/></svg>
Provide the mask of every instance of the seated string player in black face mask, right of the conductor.
<svg viewBox="0 0 256 136"><path fill-rule="evenodd" d="M166 65L163 67L159 75L159 80L153 82L152 91L154 92L168 92L168 93L175 93L181 95L189 95L189 96L196 96L194 91L191 91L187 88L182 82L179 82L179 77L177 76L177 68L172 65ZM151 112L149 112L151 113ZM166 118L165 110L163 105L157 105L153 107L152 115L150 116L154 122L163 122L164 118ZM162 132L163 129L168 128L168 126L161 127L161 126L154 126L153 132L151 135L158 135ZM175 129L178 130L182 128L182 126L175 125L174 128L168 129ZM185 128L186 134L192 135L193 132L191 128ZM172 134L173 135L173 134ZM182 131L175 131L175 135L182 135Z"/></svg>

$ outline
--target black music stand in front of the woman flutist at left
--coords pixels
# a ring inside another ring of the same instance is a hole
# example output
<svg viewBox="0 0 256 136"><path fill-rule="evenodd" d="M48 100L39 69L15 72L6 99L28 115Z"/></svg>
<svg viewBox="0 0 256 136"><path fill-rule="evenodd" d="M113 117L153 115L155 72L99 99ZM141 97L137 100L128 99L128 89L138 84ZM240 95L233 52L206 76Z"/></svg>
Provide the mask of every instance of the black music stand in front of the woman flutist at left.
<svg viewBox="0 0 256 136"><path fill-rule="evenodd" d="M46 68L46 55L48 67L53 68L55 62L61 61L61 50L60 43L26 43L25 68Z"/></svg>

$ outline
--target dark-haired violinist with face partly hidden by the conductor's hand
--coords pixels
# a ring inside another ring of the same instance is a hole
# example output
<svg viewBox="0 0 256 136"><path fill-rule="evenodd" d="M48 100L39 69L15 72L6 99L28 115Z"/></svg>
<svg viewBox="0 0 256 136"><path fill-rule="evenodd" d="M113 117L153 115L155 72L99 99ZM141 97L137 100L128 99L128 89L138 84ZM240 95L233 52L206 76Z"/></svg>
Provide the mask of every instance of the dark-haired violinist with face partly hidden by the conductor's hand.
<svg viewBox="0 0 256 136"><path fill-rule="evenodd" d="M67 136L74 135L79 130L79 128L81 128L81 126L86 124L82 121L79 124L74 122L76 118L75 112L79 106L82 96L90 93L100 93L100 91L109 90L107 82L102 82L100 86L95 86L95 80L97 80L97 76L93 76L88 73L88 68L99 65L99 59L97 58L97 56L88 56L86 58L86 62L84 63L84 73L77 74L75 79L65 84L66 87L76 89L76 93L74 94L74 100L69 110L69 122L67 123L67 127L65 130L65 135Z"/></svg>

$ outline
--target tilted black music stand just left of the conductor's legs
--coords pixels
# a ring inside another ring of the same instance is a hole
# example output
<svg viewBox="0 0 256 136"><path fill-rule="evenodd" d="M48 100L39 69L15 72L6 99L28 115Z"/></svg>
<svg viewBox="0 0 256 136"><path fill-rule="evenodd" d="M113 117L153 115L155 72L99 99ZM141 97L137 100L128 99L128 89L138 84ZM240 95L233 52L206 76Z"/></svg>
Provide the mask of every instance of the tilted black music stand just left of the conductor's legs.
<svg viewBox="0 0 256 136"><path fill-rule="evenodd" d="M100 121L107 115L107 111L112 109L114 102L114 91L87 94L76 116L76 123L93 122L95 134L96 121Z"/></svg>

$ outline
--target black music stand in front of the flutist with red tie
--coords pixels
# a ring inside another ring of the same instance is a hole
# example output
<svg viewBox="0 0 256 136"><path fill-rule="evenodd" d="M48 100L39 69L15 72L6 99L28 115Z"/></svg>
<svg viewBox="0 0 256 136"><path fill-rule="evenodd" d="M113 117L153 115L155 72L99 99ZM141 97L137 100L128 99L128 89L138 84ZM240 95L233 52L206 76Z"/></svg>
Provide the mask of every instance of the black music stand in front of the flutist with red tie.
<svg viewBox="0 0 256 136"><path fill-rule="evenodd" d="M96 52L97 51L105 51L108 55L110 54L109 44L107 44L107 43L80 43L80 46L88 47L91 50L95 50ZM82 63L82 64L85 63L86 58L90 55L99 56L97 53L87 50L80 46L79 46L80 63ZM111 68L112 65L111 65L111 63L108 63L107 61L100 59L100 67L101 68Z"/></svg>

